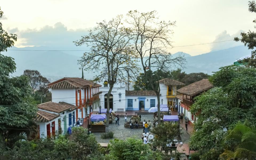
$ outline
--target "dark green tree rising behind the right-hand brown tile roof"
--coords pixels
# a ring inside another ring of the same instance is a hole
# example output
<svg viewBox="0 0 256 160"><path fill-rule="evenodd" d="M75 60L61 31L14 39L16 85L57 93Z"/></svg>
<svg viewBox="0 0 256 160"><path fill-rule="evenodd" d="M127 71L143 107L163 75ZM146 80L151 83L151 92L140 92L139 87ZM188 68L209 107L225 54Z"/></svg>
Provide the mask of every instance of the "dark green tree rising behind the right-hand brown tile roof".
<svg viewBox="0 0 256 160"><path fill-rule="evenodd" d="M185 85L189 85L191 83L201 81L202 79L208 79L209 77L210 77L210 75L202 73L202 72L200 72L200 73L189 73L189 74L186 74L180 80L180 82L185 83Z"/></svg>

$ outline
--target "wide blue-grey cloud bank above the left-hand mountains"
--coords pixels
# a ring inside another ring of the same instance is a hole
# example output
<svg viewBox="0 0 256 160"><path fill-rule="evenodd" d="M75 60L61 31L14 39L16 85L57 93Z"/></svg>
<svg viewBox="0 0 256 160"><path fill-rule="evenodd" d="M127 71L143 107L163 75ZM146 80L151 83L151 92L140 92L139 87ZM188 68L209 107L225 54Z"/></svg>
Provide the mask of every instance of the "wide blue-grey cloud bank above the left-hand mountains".
<svg viewBox="0 0 256 160"><path fill-rule="evenodd" d="M87 29L68 30L61 22L54 26L46 25L41 29L27 29L18 31L18 38L26 39L19 42L22 46L74 47L73 41L88 33ZM17 31L17 29L15 29Z"/></svg>

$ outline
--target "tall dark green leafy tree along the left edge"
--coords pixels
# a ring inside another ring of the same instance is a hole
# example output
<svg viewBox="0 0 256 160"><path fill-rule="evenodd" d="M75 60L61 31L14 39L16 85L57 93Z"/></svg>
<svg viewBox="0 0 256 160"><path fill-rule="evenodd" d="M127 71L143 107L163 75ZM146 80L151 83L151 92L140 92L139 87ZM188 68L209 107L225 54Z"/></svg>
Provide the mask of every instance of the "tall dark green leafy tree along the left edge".
<svg viewBox="0 0 256 160"><path fill-rule="evenodd" d="M0 18L2 15L0 10ZM0 53L13 46L16 40L17 36L8 35L0 23ZM9 77L16 69L13 60L0 54L0 141L7 147L12 147L21 139L29 138L37 129L32 121L37 107L33 103L27 77Z"/></svg>

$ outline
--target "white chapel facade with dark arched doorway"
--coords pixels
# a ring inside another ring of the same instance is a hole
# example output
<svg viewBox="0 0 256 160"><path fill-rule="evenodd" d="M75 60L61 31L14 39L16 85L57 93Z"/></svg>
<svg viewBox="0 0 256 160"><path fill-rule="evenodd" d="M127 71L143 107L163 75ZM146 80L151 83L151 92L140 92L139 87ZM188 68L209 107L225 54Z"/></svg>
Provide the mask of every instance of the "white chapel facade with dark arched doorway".
<svg viewBox="0 0 256 160"><path fill-rule="evenodd" d="M109 87L99 87L99 91L102 91L102 94L100 95L100 99L101 99L101 107L105 108L105 94L108 93L109 91ZM119 97L119 93L121 93L121 97ZM125 88L117 88L114 87L112 89L111 94L113 95L113 110L114 111L118 111L118 109L123 109L123 111L125 111L125 106L126 106L126 101L125 101ZM119 102L119 99L121 100ZM96 109L94 109L94 111L99 111L99 106L96 107Z"/></svg>

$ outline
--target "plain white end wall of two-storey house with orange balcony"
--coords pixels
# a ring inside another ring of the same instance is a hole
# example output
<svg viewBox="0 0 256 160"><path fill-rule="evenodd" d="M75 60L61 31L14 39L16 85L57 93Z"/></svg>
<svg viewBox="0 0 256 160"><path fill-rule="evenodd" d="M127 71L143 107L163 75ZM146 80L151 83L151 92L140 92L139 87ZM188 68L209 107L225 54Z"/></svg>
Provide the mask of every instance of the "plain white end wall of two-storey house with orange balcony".
<svg viewBox="0 0 256 160"><path fill-rule="evenodd" d="M75 105L75 89L51 89L52 102Z"/></svg>

